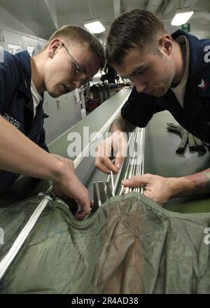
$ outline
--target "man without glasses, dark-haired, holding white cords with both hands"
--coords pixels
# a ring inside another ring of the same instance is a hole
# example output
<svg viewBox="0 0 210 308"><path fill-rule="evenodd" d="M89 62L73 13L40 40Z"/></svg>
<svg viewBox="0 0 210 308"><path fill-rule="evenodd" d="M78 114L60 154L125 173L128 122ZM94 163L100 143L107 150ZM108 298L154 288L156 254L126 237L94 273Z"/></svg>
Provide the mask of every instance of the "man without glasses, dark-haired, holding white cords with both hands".
<svg viewBox="0 0 210 308"><path fill-rule="evenodd" d="M122 132L146 127L153 114L168 110L186 130L202 141L210 141L210 41L199 40L178 30L170 35L153 13L131 10L114 20L106 41L106 57L134 88L121 116L111 125L121 148L126 147ZM123 146L122 146L123 144ZM104 144L102 145L104 148ZM96 158L103 172L118 173L124 158L118 151L114 164ZM124 186L144 185L144 195L163 204L170 197L209 193L210 169L179 178L153 174L134 176Z"/></svg>

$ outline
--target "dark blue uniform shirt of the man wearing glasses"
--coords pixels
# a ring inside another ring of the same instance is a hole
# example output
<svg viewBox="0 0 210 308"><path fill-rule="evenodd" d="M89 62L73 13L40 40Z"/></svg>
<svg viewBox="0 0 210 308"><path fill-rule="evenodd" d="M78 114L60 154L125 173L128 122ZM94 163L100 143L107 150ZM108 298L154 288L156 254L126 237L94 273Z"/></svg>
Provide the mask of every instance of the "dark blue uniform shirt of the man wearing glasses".
<svg viewBox="0 0 210 308"><path fill-rule="evenodd" d="M8 52L1 53L0 114L31 141L48 151L43 129L43 118L45 118L43 101L38 104L34 118L34 103L30 89L31 64L28 52L19 52L16 55L10 55ZM0 194L10 183L18 179L18 176L18 174L0 170Z"/></svg>

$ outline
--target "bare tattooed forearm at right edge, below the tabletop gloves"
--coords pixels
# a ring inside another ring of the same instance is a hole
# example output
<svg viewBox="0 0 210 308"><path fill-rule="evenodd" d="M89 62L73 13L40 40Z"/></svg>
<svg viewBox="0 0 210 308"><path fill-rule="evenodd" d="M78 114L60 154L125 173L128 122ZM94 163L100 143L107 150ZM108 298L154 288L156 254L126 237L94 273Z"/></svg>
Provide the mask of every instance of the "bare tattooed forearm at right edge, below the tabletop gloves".
<svg viewBox="0 0 210 308"><path fill-rule="evenodd" d="M174 178L174 180L174 196L176 197L210 193L210 169Z"/></svg>

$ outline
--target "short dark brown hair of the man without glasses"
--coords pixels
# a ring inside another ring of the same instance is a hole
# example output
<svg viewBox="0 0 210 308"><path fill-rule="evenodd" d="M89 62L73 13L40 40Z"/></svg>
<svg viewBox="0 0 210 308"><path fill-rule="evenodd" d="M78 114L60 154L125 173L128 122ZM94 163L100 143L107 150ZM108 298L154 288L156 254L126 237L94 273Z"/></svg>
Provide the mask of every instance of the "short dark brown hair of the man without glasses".
<svg viewBox="0 0 210 308"><path fill-rule="evenodd" d="M139 46L158 52L158 34L167 33L165 25L153 13L139 8L120 15L113 21L106 39L109 64L122 64L127 53Z"/></svg>

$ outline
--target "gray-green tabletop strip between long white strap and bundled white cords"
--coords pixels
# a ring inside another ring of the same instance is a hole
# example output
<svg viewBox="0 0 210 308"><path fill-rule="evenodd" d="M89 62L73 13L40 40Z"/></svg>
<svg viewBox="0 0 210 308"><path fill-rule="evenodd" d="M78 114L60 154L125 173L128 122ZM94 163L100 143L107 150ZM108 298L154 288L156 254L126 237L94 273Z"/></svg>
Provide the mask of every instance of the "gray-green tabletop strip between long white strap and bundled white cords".
<svg viewBox="0 0 210 308"><path fill-rule="evenodd" d="M94 109L92 113L88 114L86 118L80 120L76 125L71 127L68 131L66 131L61 137L53 141L49 145L50 153L55 153L57 155L62 155L63 157L70 158L71 160L75 160L76 156L69 156L67 153L67 148L71 143L68 141L71 133L78 133L81 137L81 142L83 145L83 137L84 134L91 135L94 132L99 132L99 130L107 123L107 121L113 116L113 113L119 108L119 106L123 103L123 101L130 94L130 88L124 88L120 90L120 92L116 93L100 105L97 109ZM120 114L120 112L118 113ZM84 127L86 127L86 132L84 132ZM104 136L106 132L109 132L109 127L104 132ZM83 150L83 146L82 146ZM107 175L103 172L100 172L94 167L94 157L89 155L88 157L83 158L80 165L76 168L76 175L78 179L87 187L90 193L90 199L93 199L93 182L94 181L106 181Z"/></svg>

